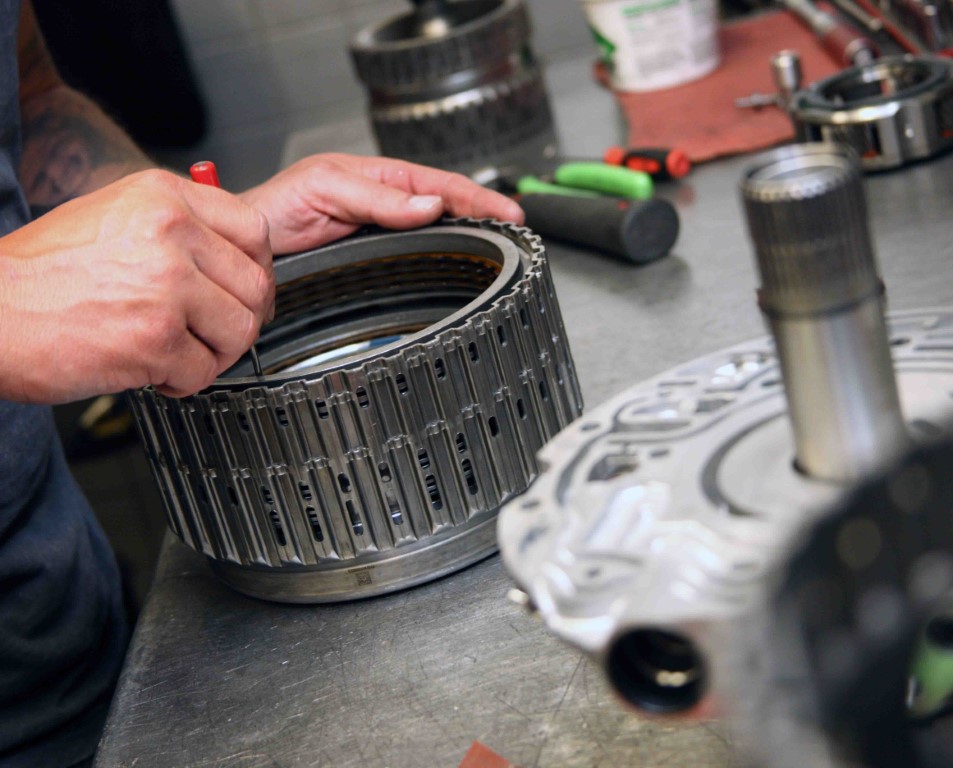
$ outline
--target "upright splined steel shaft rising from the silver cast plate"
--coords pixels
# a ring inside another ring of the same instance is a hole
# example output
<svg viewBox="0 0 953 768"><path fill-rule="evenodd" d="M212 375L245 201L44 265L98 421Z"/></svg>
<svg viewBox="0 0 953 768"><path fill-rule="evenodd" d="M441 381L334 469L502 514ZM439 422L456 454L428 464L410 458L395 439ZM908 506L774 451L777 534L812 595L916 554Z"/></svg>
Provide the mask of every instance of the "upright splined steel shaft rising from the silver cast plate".
<svg viewBox="0 0 953 768"><path fill-rule="evenodd" d="M807 474L850 481L907 445L856 155L807 144L762 155L742 182Z"/></svg>

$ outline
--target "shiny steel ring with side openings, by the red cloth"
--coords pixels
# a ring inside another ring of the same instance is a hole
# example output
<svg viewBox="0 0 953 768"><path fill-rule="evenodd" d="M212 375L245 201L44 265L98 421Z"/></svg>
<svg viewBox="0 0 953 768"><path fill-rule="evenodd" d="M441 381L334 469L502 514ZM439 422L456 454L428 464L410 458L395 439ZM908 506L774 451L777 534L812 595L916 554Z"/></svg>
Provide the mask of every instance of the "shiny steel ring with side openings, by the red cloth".
<svg viewBox="0 0 953 768"><path fill-rule="evenodd" d="M953 144L953 62L893 56L798 91L791 117L802 141L850 145L865 170L896 168Z"/></svg>

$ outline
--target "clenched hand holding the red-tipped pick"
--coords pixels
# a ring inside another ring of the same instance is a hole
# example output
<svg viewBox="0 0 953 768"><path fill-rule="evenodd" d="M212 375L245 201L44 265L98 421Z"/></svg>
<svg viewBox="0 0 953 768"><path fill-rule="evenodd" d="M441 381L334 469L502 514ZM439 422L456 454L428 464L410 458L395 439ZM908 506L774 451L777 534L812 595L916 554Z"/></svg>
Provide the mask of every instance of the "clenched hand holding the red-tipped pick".
<svg viewBox="0 0 953 768"><path fill-rule="evenodd" d="M268 223L219 189L127 176L0 238L0 397L209 385L273 311Z"/></svg>

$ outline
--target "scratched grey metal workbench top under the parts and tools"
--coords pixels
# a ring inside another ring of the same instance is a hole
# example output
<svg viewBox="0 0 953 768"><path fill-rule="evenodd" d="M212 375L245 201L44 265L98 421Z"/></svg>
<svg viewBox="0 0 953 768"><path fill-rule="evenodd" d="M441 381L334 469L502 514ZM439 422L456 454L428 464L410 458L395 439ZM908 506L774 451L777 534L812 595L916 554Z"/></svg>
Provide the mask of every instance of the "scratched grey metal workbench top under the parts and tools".
<svg viewBox="0 0 953 768"><path fill-rule="evenodd" d="M614 107L588 61L563 69L550 75L560 130L591 154L617 138ZM737 193L749 162L663 192L683 228L654 264L551 246L590 407L765 332ZM867 188L891 307L953 305L953 155ZM624 710L592 662L506 599L511 586L493 557L387 597L274 605L220 585L169 538L96 764L452 768L479 740L524 768L741 765L717 724Z"/></svg>

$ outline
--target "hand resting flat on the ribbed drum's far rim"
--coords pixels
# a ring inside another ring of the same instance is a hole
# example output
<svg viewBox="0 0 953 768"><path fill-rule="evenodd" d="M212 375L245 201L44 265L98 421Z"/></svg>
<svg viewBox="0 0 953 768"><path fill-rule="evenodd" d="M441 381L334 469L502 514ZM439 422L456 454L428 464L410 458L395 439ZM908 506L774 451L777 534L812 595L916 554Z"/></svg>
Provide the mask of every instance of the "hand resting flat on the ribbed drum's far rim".
<svg viewBox="0 0 953 768"><path fill-rule="evenodd" d="M315 248L363 224L411 229L443 214L523 221L516 203L465 176L380 157L315 155L241 197L268 218L276 254Z"/></svg>

